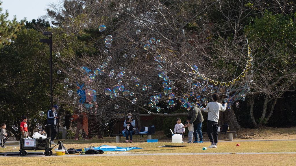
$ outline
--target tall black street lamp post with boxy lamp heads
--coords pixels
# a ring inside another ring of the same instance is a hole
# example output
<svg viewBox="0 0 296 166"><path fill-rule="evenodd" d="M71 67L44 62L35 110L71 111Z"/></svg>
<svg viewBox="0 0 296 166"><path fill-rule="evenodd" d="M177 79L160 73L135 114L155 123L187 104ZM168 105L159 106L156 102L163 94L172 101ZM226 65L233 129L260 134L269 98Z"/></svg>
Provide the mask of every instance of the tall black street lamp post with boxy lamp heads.
<svg viewBox="0 0 296 166"><path fill-rule="evenodd" d="M52 109L52 32L43 32L43 35L49 37L49 39L40 39L41 43L47 43L50 45L49 52L50 52L50 109Z"/></svg>

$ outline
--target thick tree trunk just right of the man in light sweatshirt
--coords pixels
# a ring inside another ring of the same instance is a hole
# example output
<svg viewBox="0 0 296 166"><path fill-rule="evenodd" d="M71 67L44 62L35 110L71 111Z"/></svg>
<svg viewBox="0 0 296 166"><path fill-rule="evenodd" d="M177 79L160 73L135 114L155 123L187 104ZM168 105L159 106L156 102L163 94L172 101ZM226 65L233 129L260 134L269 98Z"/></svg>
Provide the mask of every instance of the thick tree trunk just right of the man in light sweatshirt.
<svg viewBox="0 0 296 166"><path fill-rule="evenodd" d="M228 124L230 131L238 131L239 129L241 129L241 126L239 126L232 107L231 109L226 108L225 112L220 111L218 123L219 125L223 125L225 123Z"/></svg>

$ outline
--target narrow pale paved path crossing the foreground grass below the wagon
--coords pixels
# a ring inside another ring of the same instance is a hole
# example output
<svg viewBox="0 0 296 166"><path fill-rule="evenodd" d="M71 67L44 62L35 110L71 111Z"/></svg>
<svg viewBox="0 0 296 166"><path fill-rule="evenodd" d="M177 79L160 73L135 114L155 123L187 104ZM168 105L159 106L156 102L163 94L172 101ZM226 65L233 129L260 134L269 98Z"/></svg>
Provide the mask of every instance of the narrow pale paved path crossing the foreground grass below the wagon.
<svg viewBox="0 0 296 166"><path fill-rule="evenodd" d="M267 152L267 153L130 153L130 154L83 154L83 155L65 155L49 157L90 157L90 156L168 156L168 155L217 155L217 154L296 154L296 152ZM3 157L17 157L17 156L3 156ZM45 157L45 156L24 156L24 157Z"/></svg>

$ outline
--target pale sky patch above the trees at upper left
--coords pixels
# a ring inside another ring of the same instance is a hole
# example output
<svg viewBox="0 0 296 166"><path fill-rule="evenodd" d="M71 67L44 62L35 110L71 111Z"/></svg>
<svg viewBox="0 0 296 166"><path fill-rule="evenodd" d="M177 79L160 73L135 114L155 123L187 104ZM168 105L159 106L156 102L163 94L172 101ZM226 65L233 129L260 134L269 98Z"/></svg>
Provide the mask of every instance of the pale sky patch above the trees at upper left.
<svg viewBox="0 0 296 166"><path fill-rule="evenodd" d="M32 19L38 19L40 16L46 14L46 8L48 4L53 2L57 3L60 0L0 0L2 1L1 7L2 12L8 10L8 19L12 20L13 16L16 15L17 20L20 21L27 17L27 21Z"/></svg>

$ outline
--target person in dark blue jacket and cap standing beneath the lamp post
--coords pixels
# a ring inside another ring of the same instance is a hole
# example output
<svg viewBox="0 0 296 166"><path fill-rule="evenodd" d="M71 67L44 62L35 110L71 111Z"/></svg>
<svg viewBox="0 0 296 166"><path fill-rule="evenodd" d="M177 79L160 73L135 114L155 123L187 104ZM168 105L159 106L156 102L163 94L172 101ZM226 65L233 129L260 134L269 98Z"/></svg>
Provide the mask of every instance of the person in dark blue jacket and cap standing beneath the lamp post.
<svg viewBox="0 0 296 166"><path fill-rule="evenodd" d="M51 144L55 144L54 139L57 136L56 128L57 128L57 119L59 118L57 116L57 109L58 109L57 105L54 105L52 107L52 109L47 112L47 123L48 123L50 130L52 131L51 132Z"/></svg>

